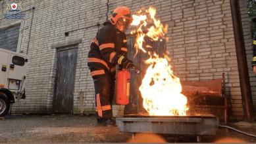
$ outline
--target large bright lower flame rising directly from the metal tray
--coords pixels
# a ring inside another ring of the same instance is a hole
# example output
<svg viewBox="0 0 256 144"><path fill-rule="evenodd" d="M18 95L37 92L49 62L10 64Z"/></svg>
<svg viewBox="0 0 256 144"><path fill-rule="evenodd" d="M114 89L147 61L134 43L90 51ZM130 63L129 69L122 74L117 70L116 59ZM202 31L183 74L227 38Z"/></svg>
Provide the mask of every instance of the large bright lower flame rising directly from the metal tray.
<svg viewBox="0 0 256 144"><path fill-rule="evenodd" d="M181 94L180 79L173 74L167 59L154 54L145 63L150 65L140 92L149 115L186 115L187 98Z"/></svg>

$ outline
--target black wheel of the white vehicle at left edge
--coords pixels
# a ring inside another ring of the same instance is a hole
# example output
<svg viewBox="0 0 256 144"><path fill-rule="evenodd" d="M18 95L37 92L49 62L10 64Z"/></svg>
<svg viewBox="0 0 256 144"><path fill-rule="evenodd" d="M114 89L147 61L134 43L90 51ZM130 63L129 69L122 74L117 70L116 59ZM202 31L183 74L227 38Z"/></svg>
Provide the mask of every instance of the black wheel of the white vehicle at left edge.
<svg viewBox="0 0 256 144"><path fill-rule="evenodd" d="M10 109L10 102L5 94L0 93L0 117L5 117Z"/></svg>

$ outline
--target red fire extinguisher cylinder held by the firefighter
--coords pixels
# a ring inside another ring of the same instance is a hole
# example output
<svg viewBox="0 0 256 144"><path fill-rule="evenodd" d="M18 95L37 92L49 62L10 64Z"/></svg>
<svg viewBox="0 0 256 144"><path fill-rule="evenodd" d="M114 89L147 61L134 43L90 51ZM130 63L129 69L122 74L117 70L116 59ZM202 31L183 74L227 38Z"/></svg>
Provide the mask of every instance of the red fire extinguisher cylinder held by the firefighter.
<svg viewBox="0 0 256 144"><path fill-rule="evenodd" d="M116 75L116 104L127 105L130 96L130 73L126 69Z"/></svg>

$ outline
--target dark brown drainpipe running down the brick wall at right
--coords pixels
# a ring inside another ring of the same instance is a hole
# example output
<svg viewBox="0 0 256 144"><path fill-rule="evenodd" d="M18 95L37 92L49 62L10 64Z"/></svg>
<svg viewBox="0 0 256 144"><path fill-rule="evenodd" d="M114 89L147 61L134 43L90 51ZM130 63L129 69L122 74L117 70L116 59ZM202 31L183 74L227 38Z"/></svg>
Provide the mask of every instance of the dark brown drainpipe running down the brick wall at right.
<svg viewBox="0 0 256 144"><path fill-rule="evenodd" d="M236 56L238 60L238 72L240 88L243 101L243 113L245 120L253 121L253 101L251 98L251 86L249 81L247 60L245 54L245 44L243 39L243 27L240 13L239 0L230 0L232 22L234 29L234 39L236 44Z"/></svg>

